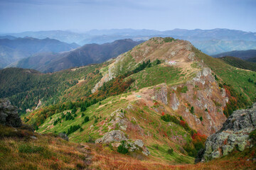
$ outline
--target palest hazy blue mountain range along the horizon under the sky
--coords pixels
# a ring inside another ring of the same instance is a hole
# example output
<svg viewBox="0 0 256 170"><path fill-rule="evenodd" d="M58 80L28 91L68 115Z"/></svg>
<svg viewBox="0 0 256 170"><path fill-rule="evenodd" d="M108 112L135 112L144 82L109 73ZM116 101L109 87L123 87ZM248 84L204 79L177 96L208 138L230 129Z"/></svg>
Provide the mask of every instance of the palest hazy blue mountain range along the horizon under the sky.
<svg viewBox="0 0 256 170"><path fill-rule="evenodd" d="M54 38L63 42L75 42L80 45L89 43L103 44L114 40L130 38L132 40L149 40L152 37L173 37L189 40L195 47L208 55L216 55L230 50L256 50L256 33L242 30L229 30L216 28L213 30L134 30L110 29L90 30L85 33L73 33L63 30L49 30L38 32L10 33L15 37L30 36L33 38Z"/></svg>

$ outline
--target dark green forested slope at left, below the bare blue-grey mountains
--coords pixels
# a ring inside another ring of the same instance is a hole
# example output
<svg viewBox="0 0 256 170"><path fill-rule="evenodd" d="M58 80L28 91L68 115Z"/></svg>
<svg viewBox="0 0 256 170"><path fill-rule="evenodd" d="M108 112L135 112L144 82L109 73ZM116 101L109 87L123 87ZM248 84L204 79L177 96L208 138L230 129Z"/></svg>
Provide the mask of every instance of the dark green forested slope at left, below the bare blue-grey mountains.
<svg viewBox="0 0 256 170"><path fill-rule="evenodd" d="M79 69L67 69L53 74L41 74L31 69L8 68L0 71L0 97L8 97L15 106L35 108L38 100L45 105L60 101L76 100L90 94L90 89L101 79L100 72L105 64L96 64ZM78 81L84 79L80 84ZM70 88L76 86L70 96ZM78 92L79 91L79 92Z"/></svg>

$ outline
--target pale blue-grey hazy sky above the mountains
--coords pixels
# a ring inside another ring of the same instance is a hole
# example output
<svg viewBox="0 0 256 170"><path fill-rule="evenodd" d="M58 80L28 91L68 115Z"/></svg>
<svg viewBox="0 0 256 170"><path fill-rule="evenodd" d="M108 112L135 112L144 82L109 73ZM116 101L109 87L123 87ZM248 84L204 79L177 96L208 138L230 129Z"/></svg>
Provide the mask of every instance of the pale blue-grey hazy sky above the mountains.
<svg viewBox="0 0 256 170"><path fill-rule="evenodd" d="M256 32L256 1L0 0L0 33L112 28Z"/></svg>

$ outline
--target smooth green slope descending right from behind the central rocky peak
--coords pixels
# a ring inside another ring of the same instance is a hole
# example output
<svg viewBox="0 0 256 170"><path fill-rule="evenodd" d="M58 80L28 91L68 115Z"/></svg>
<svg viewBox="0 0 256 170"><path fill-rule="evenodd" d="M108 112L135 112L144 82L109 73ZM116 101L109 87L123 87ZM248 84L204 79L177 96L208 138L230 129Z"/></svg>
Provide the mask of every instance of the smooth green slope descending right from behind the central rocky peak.
<svg viewBox="0 0 256 170"><path fill-rule="evenodd" d="M256 101L256 86L248 81L252 79L256 81L256 73L244 69L238 69L226 64L216 58L210 57L203 52L199 52L196 48L193 49L196 56L201 58L205 64L213 70L226 84L231 84L238 94L242 94L248 101Z"/></svg>

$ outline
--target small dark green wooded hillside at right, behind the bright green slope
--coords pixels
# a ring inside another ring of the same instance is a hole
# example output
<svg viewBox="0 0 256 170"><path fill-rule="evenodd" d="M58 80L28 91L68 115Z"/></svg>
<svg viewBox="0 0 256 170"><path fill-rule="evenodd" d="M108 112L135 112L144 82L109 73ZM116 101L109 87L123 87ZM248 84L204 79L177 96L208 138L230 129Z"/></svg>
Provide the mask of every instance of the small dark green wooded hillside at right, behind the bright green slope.
<svg viewBox="0 0 256 170"><path fill-rule="evenodd" d="M251 71L256 72L256 63L254 62L246 62L245 60L241 60L237 57L220 57L220 60L223 60L225 63L232 65L233 67L237 67L240 69L249 69Z"/></svg>

